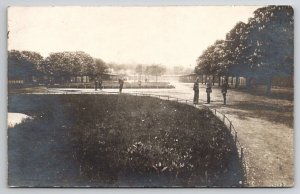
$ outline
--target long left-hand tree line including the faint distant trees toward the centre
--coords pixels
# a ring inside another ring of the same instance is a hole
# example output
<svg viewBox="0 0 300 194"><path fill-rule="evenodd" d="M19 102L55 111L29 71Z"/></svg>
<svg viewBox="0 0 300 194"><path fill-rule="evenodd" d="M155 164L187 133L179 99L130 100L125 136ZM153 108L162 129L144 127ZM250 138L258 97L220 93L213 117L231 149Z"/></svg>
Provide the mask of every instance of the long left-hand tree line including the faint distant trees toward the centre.
<svg viewBox="0 0 300 194"><path fill-rule="evenodd" d="M144 69L143 69L144 66ZM55 52L50 53L48 57L33 51L11 50L8 52L8 76L10 79L22 78L30 82L32 76L38 79L38 82L47 81L51 78L54 82L70 82L74 76L89 76L94 78L107 72L117 72L126 74L129 72L138 75L161 76L166 72L162 65L131 65L105 63L99 58L93 58L89 54L77 52Z"/></svg>

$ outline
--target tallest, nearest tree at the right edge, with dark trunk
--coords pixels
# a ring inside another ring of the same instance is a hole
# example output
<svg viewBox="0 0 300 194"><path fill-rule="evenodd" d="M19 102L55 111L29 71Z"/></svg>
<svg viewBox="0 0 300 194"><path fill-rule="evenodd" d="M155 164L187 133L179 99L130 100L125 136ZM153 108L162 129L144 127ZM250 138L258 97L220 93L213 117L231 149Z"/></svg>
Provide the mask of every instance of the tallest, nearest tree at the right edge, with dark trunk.
<svg viewBox="0 0 300 194"><path fill-rule="evenodd" d="M294 72L294 12L290 6L268 6L254 12L249 22L259 36L254 39L252 65L266 78L271 92L273 76Z"/></svg>

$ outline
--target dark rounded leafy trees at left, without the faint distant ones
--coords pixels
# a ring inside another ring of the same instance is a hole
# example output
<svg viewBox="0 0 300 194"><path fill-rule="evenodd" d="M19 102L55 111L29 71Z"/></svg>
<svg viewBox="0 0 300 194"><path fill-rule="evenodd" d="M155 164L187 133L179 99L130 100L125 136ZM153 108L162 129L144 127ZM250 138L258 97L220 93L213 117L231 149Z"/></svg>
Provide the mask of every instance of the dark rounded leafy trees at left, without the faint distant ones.
<svg viewBox="0 0 300 194"><path fill-rule="evenodd" d="M8 52L9 78L42 79L52 77L56 81L69 81L72 76L99 76L108 66L98 58L77 52L55 52L43 58L37 52L11 50Z"/></svg>

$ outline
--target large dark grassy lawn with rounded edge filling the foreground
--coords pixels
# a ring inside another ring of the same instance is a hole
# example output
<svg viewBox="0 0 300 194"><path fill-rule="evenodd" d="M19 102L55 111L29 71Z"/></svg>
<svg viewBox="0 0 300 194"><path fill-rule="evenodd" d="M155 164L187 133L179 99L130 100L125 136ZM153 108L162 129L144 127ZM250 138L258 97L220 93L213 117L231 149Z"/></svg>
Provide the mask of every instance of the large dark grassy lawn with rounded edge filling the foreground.
<svg viewBox="0 0 300 194"><path fill-rule="evenodd" d="M233 139L211 112L151 97L26 95L8 111L9 185L239 186Z"/></svg>

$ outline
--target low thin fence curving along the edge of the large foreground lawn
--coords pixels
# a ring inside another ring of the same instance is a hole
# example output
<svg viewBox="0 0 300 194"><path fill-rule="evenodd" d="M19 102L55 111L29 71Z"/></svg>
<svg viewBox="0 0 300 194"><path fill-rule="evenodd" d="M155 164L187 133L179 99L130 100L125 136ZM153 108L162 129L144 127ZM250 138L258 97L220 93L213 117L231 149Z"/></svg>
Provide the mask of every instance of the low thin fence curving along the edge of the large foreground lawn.
<svg viewBox="0 0 300 194"><path fill-rule="evenodd" d="M47 94L99 94L99 93L67 90L64 92L49 92L48 91ZM119 94L119 92L103 92L102 91L100 94ZM192 100L172 97L172 96L168 96L168 95L157 95L157 94L142 93L142 92L132 92L132 93L124 93L124 94L134 95L134 96L147 96L147 97L154 97L154 98L159 98L159 99L167 100L167 101L175 101L178 103L185 103L187 105L194 106L196 108L202 107L202 108L205 108L205 109L211 111L216 117L218 117L224 123L224 125L227 127L227 129L229 130L230 134L233 137L233 140L235 142L235 145L236 145L236 148L237 148L237 151L239 154L239 160L243 167L244 176L243 176L243 180L241 180L242 181L241 185L243 185L243 186L247 185L247 170L246 170L246 161L245 161L245 157L244 157L244 147L241 145L241 143L238 139L238 133L237 133L234 125L232 124L232 121L225 114L219 112L217 109L212 109L204 104L195 105Z"/></svg>

